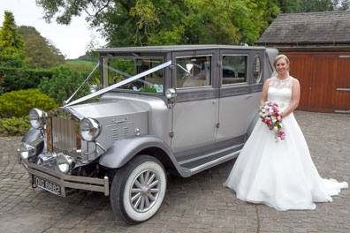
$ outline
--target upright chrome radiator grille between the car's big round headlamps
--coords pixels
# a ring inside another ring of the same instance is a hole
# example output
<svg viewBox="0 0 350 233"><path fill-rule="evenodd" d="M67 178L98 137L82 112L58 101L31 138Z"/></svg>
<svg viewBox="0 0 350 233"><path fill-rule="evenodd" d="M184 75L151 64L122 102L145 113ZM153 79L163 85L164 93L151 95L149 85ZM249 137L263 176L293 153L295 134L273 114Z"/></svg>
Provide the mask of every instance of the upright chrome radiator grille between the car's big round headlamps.
<svg viewBox="0 0 350 233"><path fill-rule="evenodd" d="M76 154L81 148L79 123L71 117L50 116L47 124L48 150Z"/></svg>

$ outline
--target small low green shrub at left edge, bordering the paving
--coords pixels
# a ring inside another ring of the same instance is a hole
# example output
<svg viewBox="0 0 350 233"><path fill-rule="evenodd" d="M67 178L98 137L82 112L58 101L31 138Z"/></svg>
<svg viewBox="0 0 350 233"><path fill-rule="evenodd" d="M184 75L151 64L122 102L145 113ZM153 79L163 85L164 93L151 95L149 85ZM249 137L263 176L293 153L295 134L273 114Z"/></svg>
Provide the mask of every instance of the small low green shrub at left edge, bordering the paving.
<svg viewBox="0 0 350 233"><path fill-rule="evenodd" d="M0 118L0 136L23 135L29 127L28 116Z"/></svg>

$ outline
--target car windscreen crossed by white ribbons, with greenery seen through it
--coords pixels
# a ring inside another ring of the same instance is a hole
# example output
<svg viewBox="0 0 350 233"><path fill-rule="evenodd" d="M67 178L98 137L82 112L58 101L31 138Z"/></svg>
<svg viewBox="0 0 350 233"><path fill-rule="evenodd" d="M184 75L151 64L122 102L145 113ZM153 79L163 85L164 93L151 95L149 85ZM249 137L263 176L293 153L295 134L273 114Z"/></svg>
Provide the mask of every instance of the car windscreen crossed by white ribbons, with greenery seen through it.
<svg viewBox="0 0 350 233"><path fill-rule="evenodd" d="M164 63L163 57L121 57L105 56L103 59L103 83L104 86L110 86L124 79L133 77L143 71L156 67ZM164 71L159 70L148 74L147 76L130 82L124 86L118 87L120 90L129 90L133 92L144 92L153 94L163 94Z"/></svg>

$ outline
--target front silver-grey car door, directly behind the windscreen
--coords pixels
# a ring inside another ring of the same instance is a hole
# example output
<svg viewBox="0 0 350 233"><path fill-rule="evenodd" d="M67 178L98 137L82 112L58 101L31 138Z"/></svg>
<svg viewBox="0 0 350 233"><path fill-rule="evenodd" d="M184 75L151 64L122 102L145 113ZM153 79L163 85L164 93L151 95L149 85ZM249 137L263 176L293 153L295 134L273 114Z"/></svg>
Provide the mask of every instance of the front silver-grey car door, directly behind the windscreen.
<svg viewBox="0 0 350 233"><path fill-rule="evenodd" d="M172 53L172 83L177 91L172 108L171 135L171 149L175 154L195 154L196 149L215 141L216 59L214 50Z"/></svg>

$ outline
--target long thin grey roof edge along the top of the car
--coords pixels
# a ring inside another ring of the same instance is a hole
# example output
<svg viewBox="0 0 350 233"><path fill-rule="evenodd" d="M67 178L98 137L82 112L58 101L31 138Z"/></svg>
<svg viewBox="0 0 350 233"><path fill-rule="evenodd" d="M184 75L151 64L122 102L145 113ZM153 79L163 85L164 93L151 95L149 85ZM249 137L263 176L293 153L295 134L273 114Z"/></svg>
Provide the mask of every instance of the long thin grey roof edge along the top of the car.
<svg viewBox="0 0 350 233"><path fill-rule="evenodd" d="M219 45L219 44L186 44L186 45L161 45L161 46L141 46L141 47L119 47L96 49L97 52L115 53L115 52L171 52L200 49L265 49L261 46L244 46L244 45Z"/></svg>

